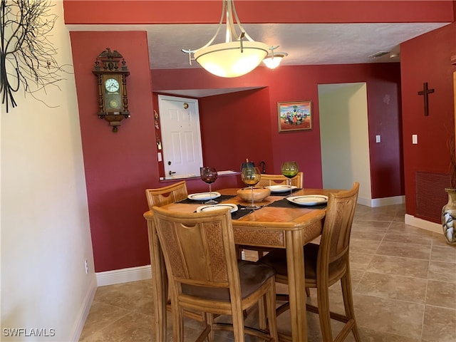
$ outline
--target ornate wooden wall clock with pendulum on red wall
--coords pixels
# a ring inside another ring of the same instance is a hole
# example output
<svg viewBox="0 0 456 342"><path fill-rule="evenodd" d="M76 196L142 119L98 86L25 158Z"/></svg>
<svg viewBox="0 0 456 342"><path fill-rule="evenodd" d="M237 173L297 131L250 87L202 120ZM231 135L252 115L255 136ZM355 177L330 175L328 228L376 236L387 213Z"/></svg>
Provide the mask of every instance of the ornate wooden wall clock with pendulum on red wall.
<svg viewBox="0 0 456 342"><path fill-rule="evenodd" d="M130 71L118 51L106 48L96 58L92 72L98 82L98 118L108 120L113 132L117 132L120 121L130 118L127 93Z"/></svg>

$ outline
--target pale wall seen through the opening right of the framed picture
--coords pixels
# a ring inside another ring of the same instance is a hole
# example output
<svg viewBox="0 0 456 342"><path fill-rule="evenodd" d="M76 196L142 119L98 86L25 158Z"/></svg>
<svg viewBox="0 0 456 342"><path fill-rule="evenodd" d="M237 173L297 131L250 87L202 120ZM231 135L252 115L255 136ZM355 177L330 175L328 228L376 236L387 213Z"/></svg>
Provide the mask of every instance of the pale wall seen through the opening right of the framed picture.
<svg viewBox="0 0 456 342"><path fill-rule="evenodd" d="M358 202L370 202L366 83L318 85L323 187L350 189L360 183Z"/></svg>

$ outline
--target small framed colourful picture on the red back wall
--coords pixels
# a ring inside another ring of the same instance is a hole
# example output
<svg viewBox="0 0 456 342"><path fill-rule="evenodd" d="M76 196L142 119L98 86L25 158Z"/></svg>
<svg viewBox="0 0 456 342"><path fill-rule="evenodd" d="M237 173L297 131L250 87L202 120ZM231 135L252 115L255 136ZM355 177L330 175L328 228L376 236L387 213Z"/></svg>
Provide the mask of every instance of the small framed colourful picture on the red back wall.
<svg viewBox="0 0 456 342"><path fill-rule="evenodd" d="M277 103L279 132L312 130L311 101Z"/></svg>

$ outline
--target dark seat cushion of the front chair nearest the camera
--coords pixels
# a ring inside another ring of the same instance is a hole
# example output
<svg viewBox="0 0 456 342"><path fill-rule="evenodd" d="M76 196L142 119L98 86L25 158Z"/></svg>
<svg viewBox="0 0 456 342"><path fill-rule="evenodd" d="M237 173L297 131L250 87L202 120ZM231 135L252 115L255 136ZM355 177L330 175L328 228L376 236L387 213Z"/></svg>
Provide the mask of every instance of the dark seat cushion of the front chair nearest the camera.
<svg viewBox="0 0 456 342"><path fill-rule="evenodd" d="M271 266L260 262L238 260L239 280L241 282L242 299L247 298L274 276L275 271ZM214 289L204 286L182 284L182 293L204 299L229 301L229 289Z"/></svg>

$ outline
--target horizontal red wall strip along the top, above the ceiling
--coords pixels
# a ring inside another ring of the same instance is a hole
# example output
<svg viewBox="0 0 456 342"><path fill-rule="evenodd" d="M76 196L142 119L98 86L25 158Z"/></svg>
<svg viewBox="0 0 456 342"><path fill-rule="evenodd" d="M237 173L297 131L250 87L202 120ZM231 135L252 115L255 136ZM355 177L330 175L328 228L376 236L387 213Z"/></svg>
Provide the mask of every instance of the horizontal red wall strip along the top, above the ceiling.
<svg viewBox="0 0 456 342"><path fill-rule="evenodd" d="M218 23L220 0L64 0L66 24ZM395 23L452 21L451 0L236 0L242 23ZM172 14L172 15L170 15Z"/></svg>

